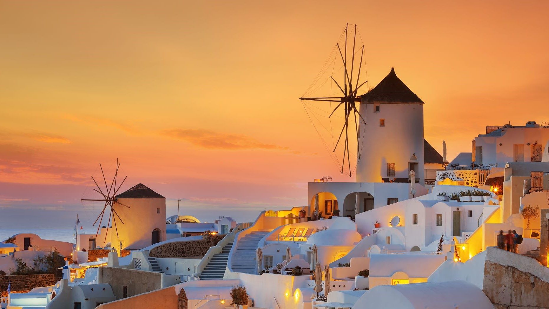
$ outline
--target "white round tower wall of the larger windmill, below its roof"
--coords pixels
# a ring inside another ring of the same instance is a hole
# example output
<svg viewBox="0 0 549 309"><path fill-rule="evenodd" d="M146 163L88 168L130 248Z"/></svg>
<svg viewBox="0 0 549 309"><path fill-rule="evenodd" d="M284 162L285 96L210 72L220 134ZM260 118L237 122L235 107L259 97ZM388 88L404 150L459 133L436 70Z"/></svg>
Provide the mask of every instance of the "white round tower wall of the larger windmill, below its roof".
<svg viewBox="0 0 549 309"><path fill-rule="evenodd" d="M379 112L374 112L374 104L360 105L360 114L366 123L360 123L361 158L357 160L357 182L380 182L387 176L387 164L395 164L395 176L408 178L408 161L415 153L418 159L416 178L424 183L424 142L422 104L379 104ZM385 126L379 126L379 119Z"/></svg>

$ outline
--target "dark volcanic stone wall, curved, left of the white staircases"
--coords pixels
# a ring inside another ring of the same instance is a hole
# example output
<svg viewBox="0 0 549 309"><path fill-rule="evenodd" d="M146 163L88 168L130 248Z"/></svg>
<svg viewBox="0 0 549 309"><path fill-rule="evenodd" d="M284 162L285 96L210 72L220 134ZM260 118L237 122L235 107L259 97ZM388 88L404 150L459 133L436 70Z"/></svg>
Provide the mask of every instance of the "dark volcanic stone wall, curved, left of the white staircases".
<svg viewBox="0 0 549 309"><path fill-rule="evenodd" d="M208 239L175 241L157 246L149 251L151 257L203 257L211 246L217 245L225 235L213 235Z"/></svg>

